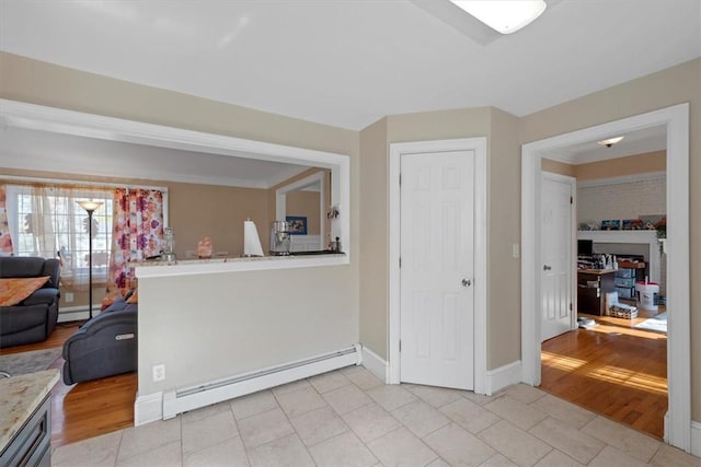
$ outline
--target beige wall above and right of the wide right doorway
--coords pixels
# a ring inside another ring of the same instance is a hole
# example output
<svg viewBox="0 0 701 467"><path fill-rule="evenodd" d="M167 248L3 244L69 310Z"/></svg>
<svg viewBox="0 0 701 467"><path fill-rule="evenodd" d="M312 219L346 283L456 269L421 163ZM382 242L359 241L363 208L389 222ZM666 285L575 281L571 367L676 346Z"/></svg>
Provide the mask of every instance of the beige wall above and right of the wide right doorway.
<svg viewBox="0 0 701 467"><path fill-rule="evenodd" d="M689 138L689 222L691 232L691 378L692 419L701 420L701 184L694 183L701 171L701 59L640 78L567 102L520 119L521 143L613 121L637 114L690 103ZM674 180L673 180L674 182ZM518 215L518 208L513 213Z"/></svg>

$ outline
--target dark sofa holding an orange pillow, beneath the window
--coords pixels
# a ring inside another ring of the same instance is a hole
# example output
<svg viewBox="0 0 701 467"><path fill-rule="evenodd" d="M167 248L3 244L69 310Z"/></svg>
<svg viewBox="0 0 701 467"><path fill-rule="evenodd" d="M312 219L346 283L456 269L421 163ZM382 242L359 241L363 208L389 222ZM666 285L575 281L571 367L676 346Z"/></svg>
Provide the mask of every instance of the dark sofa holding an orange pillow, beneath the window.
<svg viewBox="0 0 701 467"><path fill-rule="evenodd" d="M19 303L0 306L0 348L46 340L58 320L60 266L55 258L0 257L0 279L48 277ZM3 285L7 291L8 285Z"/></svg>

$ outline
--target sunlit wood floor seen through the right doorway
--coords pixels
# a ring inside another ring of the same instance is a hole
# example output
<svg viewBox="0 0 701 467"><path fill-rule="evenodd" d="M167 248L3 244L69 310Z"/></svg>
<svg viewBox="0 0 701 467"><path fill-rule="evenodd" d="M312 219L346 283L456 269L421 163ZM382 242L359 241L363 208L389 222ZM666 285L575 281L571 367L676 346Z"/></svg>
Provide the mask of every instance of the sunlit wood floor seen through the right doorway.
<svg viewBox="0 0 701 467"><path fill-rule="evenodd" d="M633 320L591 316L598 323L593 329L544 341L541 389L662 440L667 336L632 327L655 314L639 310Z"/></svg>

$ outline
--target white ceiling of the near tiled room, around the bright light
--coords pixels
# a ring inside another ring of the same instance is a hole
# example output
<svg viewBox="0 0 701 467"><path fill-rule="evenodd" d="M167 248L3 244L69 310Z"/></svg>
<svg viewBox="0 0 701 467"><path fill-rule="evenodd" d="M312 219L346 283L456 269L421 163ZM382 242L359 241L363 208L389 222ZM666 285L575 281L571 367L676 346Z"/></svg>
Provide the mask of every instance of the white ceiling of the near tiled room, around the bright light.
<svg viewBox="0 0 701 467"><path fill-rule="evenodd" d="M522 116L701 56L699 0L551 0L506 36L447 0L1 1L2 50L355 130Z"/></svg>

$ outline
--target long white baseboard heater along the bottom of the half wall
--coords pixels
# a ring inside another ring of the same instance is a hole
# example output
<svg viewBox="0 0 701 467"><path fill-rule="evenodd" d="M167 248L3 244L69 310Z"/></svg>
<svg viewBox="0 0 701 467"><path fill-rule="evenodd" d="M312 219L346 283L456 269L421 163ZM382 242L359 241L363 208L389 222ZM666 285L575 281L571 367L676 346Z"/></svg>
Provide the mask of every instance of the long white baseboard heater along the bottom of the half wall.
<svg viewBox="0 0 701 467"><path fill-rule="evenodd" d="M163 394L163 420L258 390L361 363L359 345Z"/></svg>

